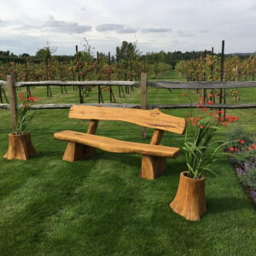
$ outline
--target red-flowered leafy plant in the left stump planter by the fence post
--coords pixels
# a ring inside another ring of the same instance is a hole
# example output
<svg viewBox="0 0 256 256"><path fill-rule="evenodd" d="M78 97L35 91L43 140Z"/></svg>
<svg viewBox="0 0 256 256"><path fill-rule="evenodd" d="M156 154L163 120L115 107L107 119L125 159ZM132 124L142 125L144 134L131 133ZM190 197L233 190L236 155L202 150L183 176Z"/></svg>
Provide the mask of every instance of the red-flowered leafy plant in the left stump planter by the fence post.
<svg viewBox="0 0 256 256"><path fill-rule="evenodd" d="M29 125L33 118L33 113L30 111L32 102L38 100L38 97L24 97L22 92L20 92L19 98L22 101L22 105L18 110L15 134L22 134L26 131L27 125Z"/></svg>

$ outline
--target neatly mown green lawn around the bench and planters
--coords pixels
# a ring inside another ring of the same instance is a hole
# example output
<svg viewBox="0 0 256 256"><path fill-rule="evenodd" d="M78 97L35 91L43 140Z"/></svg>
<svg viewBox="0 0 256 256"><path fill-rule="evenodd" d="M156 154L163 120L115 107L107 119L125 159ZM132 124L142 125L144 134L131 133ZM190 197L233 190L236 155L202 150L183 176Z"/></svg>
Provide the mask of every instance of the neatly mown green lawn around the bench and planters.
<svg viewBox="0 0 256 256"><path fill-rule="evenodd" d="M45 89L33 94L40 96L39 102L77 102L72 88L64 97L60 88L53 90L49 99L44 98ZM149 88L148 104L188 101L181 93L198 98L194 90L170 93ZM255 89L244 96L241 101L256 102ZM86 99L96 102L96 91ZM117 99L138 103L139 89ZM190 114L182 109L163 112ZM0 255L254 255L255 210L226 158L219 158L214 166L218 177L206 173L207 213L201 221L189 222L168 206L179 173L186 170L183 154L168 160L167 171L155 180L138 177L141 156L137 154L97 150L90 160L64 162L67 143L54 140L53 134L85 131L88 124L68 119L67 113L35 111L28 130L38 155L27 161L0 158ZM255 109L229 114L241 118L236 125L255 133ZM8 148L9 119L9 111L0 110L0 156ZM219 131L218 138L224 139L230 127ZM106 121L100 122L97 132L143 143L140 133L137 125ZM151 134L148 130L147 143ZM182 147L183 139L166 132L162 143Z"/></svg>

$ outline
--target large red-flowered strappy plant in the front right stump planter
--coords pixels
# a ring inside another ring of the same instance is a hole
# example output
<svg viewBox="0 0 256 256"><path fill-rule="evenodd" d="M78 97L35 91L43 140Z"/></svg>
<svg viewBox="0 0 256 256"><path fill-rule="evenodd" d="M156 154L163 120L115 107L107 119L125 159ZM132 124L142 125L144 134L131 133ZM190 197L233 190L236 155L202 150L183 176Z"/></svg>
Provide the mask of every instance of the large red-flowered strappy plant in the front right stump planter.
<svg viewBox="0 0 256 256"><path fill-rule="evenodd" d="M186 131L183 145L189 169L188 175L195 179L201 178L202 173L205 171L216 174L212 171L212 164L217 160L219 151L230 142L212 142L212 138L219 129L218 125L226 126L228 123L233 123L234 120L238 119L234 116L222 118L220 116L221 110L209 112L207 108L202 106L202 103L198 108L201 108L202 116L189 117L188 123L191 126Z"/></svg>

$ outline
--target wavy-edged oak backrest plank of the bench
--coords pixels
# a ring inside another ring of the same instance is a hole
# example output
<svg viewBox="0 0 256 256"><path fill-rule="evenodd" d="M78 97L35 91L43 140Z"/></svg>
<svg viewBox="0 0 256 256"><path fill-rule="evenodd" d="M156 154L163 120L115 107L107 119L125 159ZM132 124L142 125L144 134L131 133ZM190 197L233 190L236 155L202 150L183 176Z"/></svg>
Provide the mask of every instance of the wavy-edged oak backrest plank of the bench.
<svg viewBox="0 0 256 256"><path fill-rule="evenodd" d="M162 113L159 109L142 110L73 105L68 117L71 119L125 121L156 130L172 131L177 134L183 134L186 127L185 119Z"/></svg>

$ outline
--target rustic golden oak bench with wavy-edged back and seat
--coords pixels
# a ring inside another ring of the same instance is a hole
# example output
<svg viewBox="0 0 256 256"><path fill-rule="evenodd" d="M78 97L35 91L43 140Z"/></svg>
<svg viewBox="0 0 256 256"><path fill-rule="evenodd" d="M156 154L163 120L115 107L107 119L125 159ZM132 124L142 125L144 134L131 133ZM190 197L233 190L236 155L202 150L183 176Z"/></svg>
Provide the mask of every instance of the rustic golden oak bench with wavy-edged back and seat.
<svg viewBox="0 0 256 256"><path fill-rule="evenodd" d="M154 179L166 169L166 157L176 158L179 148L160 145L164 131L183 134L186 122L159 109L141 110L131 108L103 108L74 105L70 108L69 118L90 119L87 133L61 131L55 133L58 140L69 142L62 160L75 161L90 158L96 148L115 153L142 154L140 177ZM117 120L154 129L150 144L131 143L95 135L99 120Z"/></svg>

